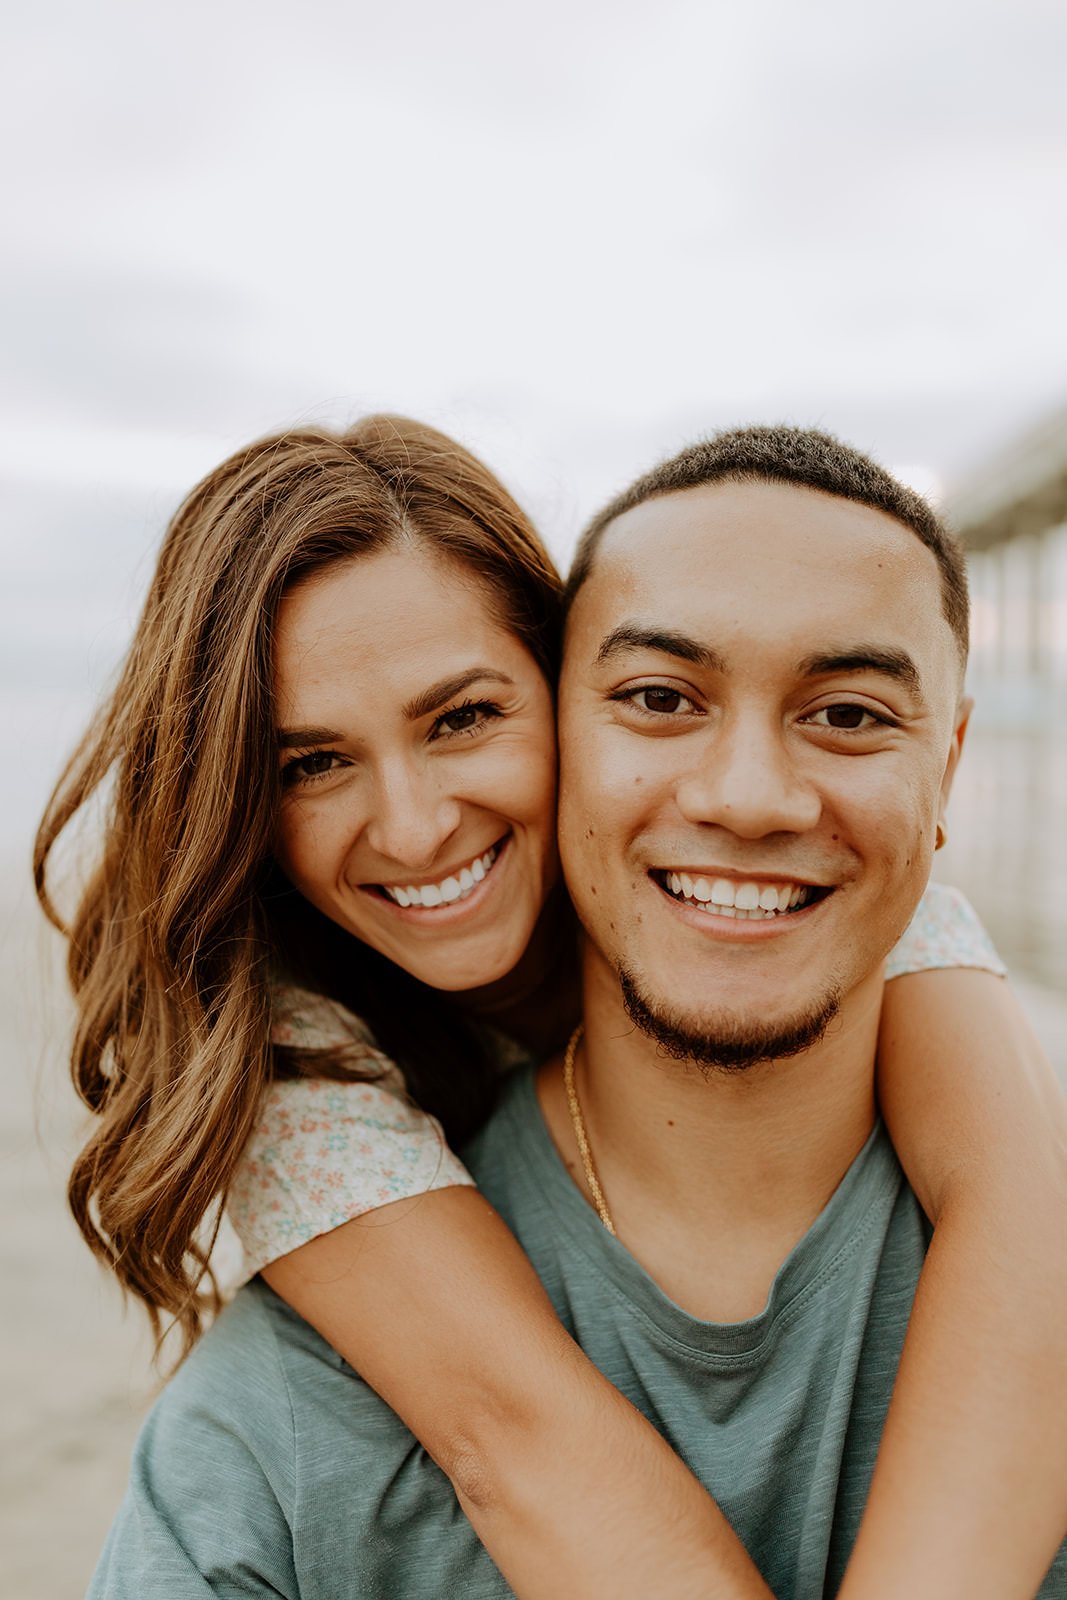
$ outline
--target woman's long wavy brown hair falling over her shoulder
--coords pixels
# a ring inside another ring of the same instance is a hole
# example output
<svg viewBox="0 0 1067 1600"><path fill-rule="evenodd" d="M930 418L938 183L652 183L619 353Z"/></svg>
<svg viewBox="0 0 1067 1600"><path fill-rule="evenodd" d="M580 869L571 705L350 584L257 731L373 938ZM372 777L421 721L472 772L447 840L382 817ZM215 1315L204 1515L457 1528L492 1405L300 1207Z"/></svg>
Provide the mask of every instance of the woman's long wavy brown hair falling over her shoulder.
<svg viewBox="0 0 1067 1600"><path fill-rule="evenodd" d="M72 1077L98 1117L70 1210L157 1341L176 1325L182 1354L219 1306L208 1256L264 1085L346 1072L330 1054L309 1066L272 1048L278 971L360 1011L450 1141L490 1106L491 1067L461 1014L315 912L270 856L280 598L334 562L410 541L477 574L553 678L558 574L480 461L405 418L280 434L179 507L117 688L38 829L37 893L69 939ZM102 845L66 923L48 862L93 797Z"/></svg>

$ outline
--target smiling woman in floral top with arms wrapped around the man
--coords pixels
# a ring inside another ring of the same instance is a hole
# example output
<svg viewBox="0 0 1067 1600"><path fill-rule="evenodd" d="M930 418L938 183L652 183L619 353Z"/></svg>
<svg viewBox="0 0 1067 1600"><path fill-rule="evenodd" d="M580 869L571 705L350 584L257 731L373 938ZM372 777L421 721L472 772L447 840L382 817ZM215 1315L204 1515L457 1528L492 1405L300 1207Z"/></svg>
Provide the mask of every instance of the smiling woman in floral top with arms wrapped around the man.
<svg viewBox="0 0 1067 1600"><path fill-rule="evenodd" d="M218 1205L234 1192L251 1264L418 1434L518 1594L688 1595L715 1579L766 1595L699 1485L569 1342L422 1115L458 1146L488 1110L501 1035L545 1053L576 1018L552 816L558 627L558 579L522 512L418 424L371 418L344 437L266 440L194 491L123 678L38 838L50 909L51 846L114 773L102 859L70 926L74 1074L101 1117L70 1200L157 1330L166 1312L189 1342ZM966 928L939 938L934 958L912 966L992 965ZM909 1062L945 1014L966 1048L944 1050L937 1083L915 1093ZM923 1352L960 1262L973 1277L990 1245L984 1189L1000 1192L1008 1171L1021 1192L1019 1213L998 1224L1003 1254L1033 1246L1024 1211L1061 1194L1045 1078L1017 1045L1006 1061L1019 1022L1001 986L976 973L902 978L885 1037L894 1138L947 1243L923 1274L846 1579L856 1594L875 1592L875 1570L893 1592L886 1531L899 1538L917 1501L939 1506L949 1528L960 1510L985 1510L984 1496L1003 1502L1000 1482L971 1470L976 1432L992 1430L993 1466L1019 1442L1045 1448L1029 1426L1051 1373L1037 1334L1017 1346L1029 1366L1011 1394L987 1392L982 1357L1003 1357L1014 1322L993 1317L950 1397ZM1024 1115L1006 1139L1009 1070ZM298 1162L290 1230L264 1226L256 1192L277 1194L272 1142L286 1118L290 1130L315 1122L326 1078L344 1088L326 1118L346 1157L330 1174L341 1205L323 1203ZM931 1149L937 1118L957 1144L966 1136L966 1160ZM1046 1150L1048 1176L1033 1158ZM363 1221L390 1202L394 1226ZM1006 1259L1040 1323L1045 1280L1022 1250ZM456 1306L459 1275L469 1293ZM1040 1326L1051 1344L1054 1328ZM545 1363L552 1381L531 1386L526 1373ZM957 1400L974 1413L958 1424L960 1482L928 1485L923 1408L941 1418ZM611 1512L609 1539L590 1533L590 1485ZM1033 1498L1027 1549L1006 1573L1014 1587L998 1594L1032 1592L1059 1541L1054 1502L1033 1517ZM974 1552L929 1520L918 1536L937 1592L974 1594ZM979 1557L979 1571L1005 1571L1003 1552Z"/></svg>

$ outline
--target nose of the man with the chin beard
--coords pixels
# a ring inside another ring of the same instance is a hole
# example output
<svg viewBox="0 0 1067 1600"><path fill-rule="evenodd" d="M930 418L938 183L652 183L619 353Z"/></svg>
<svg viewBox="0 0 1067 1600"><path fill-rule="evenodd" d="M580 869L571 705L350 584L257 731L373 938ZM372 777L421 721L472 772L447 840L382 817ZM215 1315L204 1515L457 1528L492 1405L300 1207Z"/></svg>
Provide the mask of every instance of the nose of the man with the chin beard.
<svg viewBox="0 0 1067 1600"><path fill-rule="evenodd" d="M688 822L710 822L739 838L803 834L817 824L822 800L798 754L781 723L755 715L729 718L678 782L678 810Z"/></svg>

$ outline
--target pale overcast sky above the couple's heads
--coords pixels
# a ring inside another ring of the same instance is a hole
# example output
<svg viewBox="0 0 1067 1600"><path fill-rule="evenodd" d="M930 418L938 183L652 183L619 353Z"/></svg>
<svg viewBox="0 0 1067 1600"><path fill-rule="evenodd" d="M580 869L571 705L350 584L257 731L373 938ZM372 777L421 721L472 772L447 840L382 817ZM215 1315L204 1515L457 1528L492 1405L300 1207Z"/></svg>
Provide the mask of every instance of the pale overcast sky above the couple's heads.
<svg viewBox="0 0 1067 1600"><path fill-rule="evenodd" d="M717 426L945 482L1067 394L1059 0L6 13L19 496L392 408L560 550Z"/></svg>

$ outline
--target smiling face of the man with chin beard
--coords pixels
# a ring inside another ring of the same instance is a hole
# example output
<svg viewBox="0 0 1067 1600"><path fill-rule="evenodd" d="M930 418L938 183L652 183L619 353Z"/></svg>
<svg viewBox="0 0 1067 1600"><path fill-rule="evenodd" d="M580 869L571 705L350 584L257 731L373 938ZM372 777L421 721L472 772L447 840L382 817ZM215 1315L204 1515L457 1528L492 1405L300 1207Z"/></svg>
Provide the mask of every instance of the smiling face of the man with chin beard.
<svg viewBox="0 0 1067 1600"><path fill-rule="evenodd" d="M560 686L592 973L705 1059L811 1043L915 909L963 726L939 568L894 518L771 483L619 517Z"/></svg>

